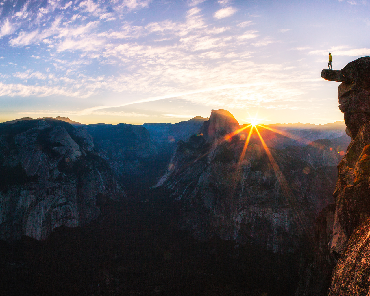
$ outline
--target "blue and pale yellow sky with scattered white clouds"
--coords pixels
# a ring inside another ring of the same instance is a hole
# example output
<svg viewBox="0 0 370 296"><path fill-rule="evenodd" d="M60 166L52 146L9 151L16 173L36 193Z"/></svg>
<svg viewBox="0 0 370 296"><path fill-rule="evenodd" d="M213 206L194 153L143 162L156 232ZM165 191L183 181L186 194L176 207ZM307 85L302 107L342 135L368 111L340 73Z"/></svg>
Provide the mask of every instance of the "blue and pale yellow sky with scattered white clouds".
<svg viewBox="0 0 370 296"><path fill-rule="evenodd" d="M0 0L1 1L1 0ZM333 69L370 55L368 1L0 2L0 122L343 121Z"/></svg>

